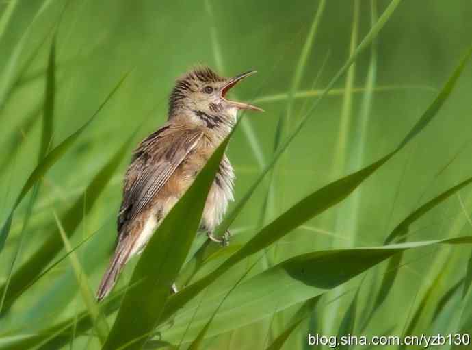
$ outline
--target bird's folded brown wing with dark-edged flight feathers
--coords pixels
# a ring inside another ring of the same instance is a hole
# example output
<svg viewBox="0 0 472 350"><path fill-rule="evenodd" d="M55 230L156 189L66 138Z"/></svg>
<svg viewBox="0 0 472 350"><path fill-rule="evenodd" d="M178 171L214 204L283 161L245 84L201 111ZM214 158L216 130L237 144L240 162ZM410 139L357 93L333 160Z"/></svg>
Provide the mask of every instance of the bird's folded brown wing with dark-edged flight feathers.
<svg viewBox="0 0 472 350"><path fill-rule="evenodd" d="M123 202L118 214L119 236L124 223L133 220L153 201L201 137L200 130L167 124L141 142L124 179Z"/></svg>

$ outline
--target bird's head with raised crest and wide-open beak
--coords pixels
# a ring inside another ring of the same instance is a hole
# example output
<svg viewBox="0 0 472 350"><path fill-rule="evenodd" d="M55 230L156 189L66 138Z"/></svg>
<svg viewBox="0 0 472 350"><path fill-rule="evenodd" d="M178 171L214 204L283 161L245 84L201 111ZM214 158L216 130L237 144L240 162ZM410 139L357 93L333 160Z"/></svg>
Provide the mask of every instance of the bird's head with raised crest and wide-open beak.
<svg viewBox="0 0 472 350"><path fill-rule="evenodd" d="M226 99L226 93L233 86L254 73L256 71L248 71L225 78L207 67L192 69L176 81L169 98L169 118L180 116L199 125L215 127L218 123L233 124L237 110L263 111L249 103Z"/></svg>

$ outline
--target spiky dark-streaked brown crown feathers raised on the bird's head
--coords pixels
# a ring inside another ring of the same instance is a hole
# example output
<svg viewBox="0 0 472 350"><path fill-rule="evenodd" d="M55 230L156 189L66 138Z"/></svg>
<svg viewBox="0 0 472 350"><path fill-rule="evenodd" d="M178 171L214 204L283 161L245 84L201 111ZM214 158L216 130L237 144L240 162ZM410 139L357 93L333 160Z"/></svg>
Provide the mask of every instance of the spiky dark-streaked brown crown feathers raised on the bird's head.
<svg viewBox="0 0 472 350"><path fill-rule="evenodd" d="M207 66L197 66L176 79L175 86L169 97L169 116L172 116L174 110L181 99L185 98L188 92L196 92L202 84L209 82L224 82L225 78L220 77Z"/></svg>

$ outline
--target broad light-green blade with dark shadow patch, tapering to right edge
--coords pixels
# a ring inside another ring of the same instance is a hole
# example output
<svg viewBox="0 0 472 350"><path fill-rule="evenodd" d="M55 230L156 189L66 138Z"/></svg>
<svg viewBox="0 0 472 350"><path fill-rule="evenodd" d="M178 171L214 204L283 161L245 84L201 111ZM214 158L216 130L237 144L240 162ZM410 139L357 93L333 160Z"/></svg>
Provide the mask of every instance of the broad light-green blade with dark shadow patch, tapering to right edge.
<svg viewBox="0 0 472 350"><path fill-rule="evenodd" d="M273 310L284 310L296 303L322 295L402 251L436 245L471 243L472 236L461 236L445 240L333 249L297 255L241 283L222 305L207 336L238 329L271 317ZM173 303L172 299L179 297L182 292L172 296L169 301ZM218 293L207 295L189 327L188 322L193 316L196 305L183 309L181 314L172 320L172 328L159 329L162 338L173 342L181 339L183 332L187 332L184 342L192 340L205 325L214 310L215 303L224 293L225 290L219 290Z"/></svg>

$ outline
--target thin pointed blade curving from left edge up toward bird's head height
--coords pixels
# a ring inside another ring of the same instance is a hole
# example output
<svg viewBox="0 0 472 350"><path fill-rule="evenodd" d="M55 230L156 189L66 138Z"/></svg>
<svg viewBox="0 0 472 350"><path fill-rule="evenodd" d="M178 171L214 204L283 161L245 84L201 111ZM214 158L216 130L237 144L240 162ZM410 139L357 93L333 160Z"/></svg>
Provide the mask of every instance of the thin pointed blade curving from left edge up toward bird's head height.
<svg viewBox="0 0 472 350"><path fill-rule="evenodd" d="M81 135L81 133L92 123L94 118L96 117L97 114L105 107L109 99L112 98L112 96L115 94L116 90L121 86L121 84L124 82L124 79L126 79L127 74L120 79L120 82L116 84L112 92L109 93L109 95L105 98L105 100L101 103L99 108L94 112L94 114L90 117L90 119L82 125L79 129L77 129L76 132L68 136L64 141L62 141L59 145L57 145L51 152L47 154L47 156L44 158L36 168L34 168L34 171L32 171L31 175L29 175L25 185L23 185L23 188L21 189L20 194L16 198L16 201L14 202L13 208L10 211L10 214L8 215L8 218L6 222L3 224L3 227L1 228L0 231L0 253L3 250L3 247L5 245L5 240L8 237L8 233L10 232L10 226L12 224L12 219L14 216L14 212L16 210L16 207L21 203L25 195L31 190L31 188L38 182L41 177L49 171L49 168L51 168L60 158L62 158L62 155L68 151L68 149L75 143L77 138Z"/></svg>

